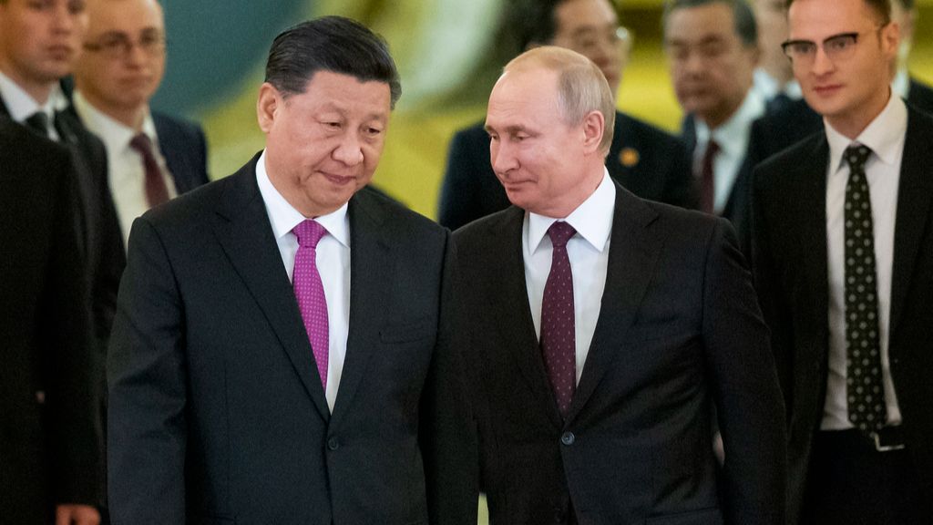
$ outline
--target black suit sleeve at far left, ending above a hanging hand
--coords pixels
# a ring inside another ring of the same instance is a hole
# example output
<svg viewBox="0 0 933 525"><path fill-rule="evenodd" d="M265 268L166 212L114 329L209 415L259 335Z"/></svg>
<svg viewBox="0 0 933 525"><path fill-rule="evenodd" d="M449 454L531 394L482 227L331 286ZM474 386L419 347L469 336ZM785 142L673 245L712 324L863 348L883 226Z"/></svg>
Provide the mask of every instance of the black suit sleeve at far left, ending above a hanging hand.
<svg viewBox="0 0 933 525"><path fill-rule="evenodd" d="M66 164L66 163L64 163ZM101 370L93 344L90 296L77 231L77 186L63 170L37 330L50 371L49 446L56 504L104 503L104 432L97 400Z"/></svg>

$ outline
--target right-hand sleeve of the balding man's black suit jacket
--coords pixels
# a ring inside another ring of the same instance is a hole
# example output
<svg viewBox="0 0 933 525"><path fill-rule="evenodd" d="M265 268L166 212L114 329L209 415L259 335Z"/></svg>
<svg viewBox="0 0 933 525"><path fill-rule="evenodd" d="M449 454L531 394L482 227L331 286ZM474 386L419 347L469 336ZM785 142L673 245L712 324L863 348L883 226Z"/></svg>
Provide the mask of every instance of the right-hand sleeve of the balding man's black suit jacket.
<svg viewBox="0 0 933 525"><path fill-rule="evenodd" d="M731 525L784 523L787 445L768 329L726 220L705 264L703 341L726 453L723 511Z"/></svg>

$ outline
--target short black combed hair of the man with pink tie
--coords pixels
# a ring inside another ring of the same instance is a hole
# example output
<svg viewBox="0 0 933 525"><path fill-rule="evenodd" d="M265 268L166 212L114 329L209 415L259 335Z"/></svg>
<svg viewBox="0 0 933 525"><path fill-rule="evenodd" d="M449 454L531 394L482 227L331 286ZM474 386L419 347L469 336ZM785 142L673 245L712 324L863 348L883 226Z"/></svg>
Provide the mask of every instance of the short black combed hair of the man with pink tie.
<svg viewBox="0 0 933 525"><path fill-rule="evenodd" d="M327 16L303 21L272 40L266 81L285 97L304 92L318 71L347 75L361 82L385 82L392 94L392 107L402 94L396 63L385 40L348 18Z"/></svg>

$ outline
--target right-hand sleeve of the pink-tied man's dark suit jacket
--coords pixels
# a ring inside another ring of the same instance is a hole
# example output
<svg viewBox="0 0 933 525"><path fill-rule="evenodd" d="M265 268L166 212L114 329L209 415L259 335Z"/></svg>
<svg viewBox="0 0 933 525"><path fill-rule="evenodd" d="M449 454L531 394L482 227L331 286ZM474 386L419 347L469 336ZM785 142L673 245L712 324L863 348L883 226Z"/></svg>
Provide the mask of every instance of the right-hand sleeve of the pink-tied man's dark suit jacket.
<svg viewBox="0 0 933 525"><path fill-rule="evenodd" d="M432 525L475 525L479 497L477 442L467 403L463 317L453 297L451 234L441 291L439 336L422 393L419 441Z"/></svg>

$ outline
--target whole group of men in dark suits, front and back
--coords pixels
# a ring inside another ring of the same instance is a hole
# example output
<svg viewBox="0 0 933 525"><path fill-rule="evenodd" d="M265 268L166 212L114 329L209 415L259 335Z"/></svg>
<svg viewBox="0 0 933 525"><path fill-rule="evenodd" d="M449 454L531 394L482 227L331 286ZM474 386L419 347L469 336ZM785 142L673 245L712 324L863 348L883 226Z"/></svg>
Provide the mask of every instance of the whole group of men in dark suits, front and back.
<svg viewBox="0 0 933 525"><path fill-rule="evenodd" d="M0 0L5 518L933 519L912 3L670 0L679 137L616 109L608 0L516 12L439 225L367 190L358 22L275 37L265 149L189 193L158 1Z"/></svg>

